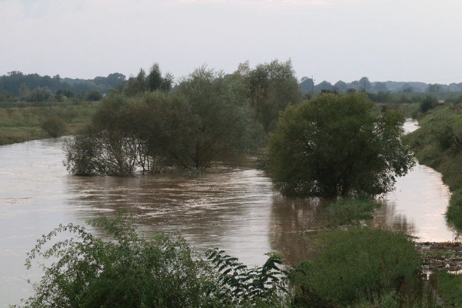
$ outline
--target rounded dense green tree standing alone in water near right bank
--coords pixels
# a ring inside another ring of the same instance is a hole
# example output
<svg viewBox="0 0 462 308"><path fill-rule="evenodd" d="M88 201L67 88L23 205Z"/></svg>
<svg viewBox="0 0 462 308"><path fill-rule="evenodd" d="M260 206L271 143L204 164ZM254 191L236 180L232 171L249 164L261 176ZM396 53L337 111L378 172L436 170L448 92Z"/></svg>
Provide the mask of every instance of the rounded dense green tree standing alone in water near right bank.
<svg viewBox="0 0 462 308"><path fill-rule="evenodd" d="M324 94L289 106L271 136L274 188L287 196L377 195L413 167L403 115L373 112L366 94Z"/></svg>

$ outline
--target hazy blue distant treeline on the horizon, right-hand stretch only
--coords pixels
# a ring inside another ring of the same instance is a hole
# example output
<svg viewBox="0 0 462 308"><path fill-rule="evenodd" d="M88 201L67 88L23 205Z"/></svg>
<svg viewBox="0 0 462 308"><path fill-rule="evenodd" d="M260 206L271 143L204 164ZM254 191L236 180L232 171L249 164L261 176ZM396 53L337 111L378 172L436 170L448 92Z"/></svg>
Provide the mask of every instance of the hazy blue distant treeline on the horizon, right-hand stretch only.
<svg viewBox="0 0 462 308"><path fill-rule="evenodd" d="M369 78L363 77L352 82L337 81L332 85L328 81L322 81L315 85L313 80L308 77L303 77L300 80L300 91L321 93L322 91L332 92L351 92L351 91L366 91L368 93L377 92L397 92L397 93L418 93L418 92L460 92L462 91L461 83L452 83L450 85L442 84L426 84L425 82L404 82L404 81L385 81L371 82Z"/></svg>

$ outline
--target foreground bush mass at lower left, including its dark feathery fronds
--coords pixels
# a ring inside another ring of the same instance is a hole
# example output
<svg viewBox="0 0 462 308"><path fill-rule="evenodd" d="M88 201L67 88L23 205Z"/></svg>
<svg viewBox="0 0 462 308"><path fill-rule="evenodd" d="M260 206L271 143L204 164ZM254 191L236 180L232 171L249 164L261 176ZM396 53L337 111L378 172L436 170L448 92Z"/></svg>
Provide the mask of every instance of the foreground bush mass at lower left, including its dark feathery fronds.
<svg viewBox="0 0 462 308"><path fill-rule="evenodd" d="M268 254L262 267L248 269L217 248L209 261L180 236L140 237L122 216L88 220L103 228L111 241L93 236L84 227L60 225L38 240L28 254L30 268L37 256L58 259L44 266L42 280L24 307L269 307L285 303L281 259ZM44 245L61 232L78 238Z"/></svg>

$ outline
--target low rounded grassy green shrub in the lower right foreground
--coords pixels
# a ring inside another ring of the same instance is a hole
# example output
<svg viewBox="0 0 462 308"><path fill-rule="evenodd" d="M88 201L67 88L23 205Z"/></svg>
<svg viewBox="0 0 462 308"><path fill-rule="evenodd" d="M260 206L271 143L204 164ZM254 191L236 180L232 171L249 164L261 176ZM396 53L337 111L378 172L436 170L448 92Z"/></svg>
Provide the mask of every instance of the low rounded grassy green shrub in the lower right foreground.
<svg viewBox="0 0 462 308"><path fill-rule="evenodd" d="M319 234L314 248L315 256L294 274L298 302L307 294L346 305L380 301L389 292L398 297L419 292L419 253L403 234L360 227L334 230Z"/></svg>

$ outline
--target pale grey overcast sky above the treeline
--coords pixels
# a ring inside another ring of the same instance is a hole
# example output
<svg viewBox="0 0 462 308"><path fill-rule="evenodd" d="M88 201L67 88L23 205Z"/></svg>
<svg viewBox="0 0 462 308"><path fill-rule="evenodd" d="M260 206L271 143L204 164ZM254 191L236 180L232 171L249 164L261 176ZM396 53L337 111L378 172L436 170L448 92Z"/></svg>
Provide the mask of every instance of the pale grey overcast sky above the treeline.
<svg viewBox="0 0 462 308"><path fill-rule="evenodd" d="M0 0L0 75L176 77L292 59L316 83L462 82L462 0Z"/></svg>

